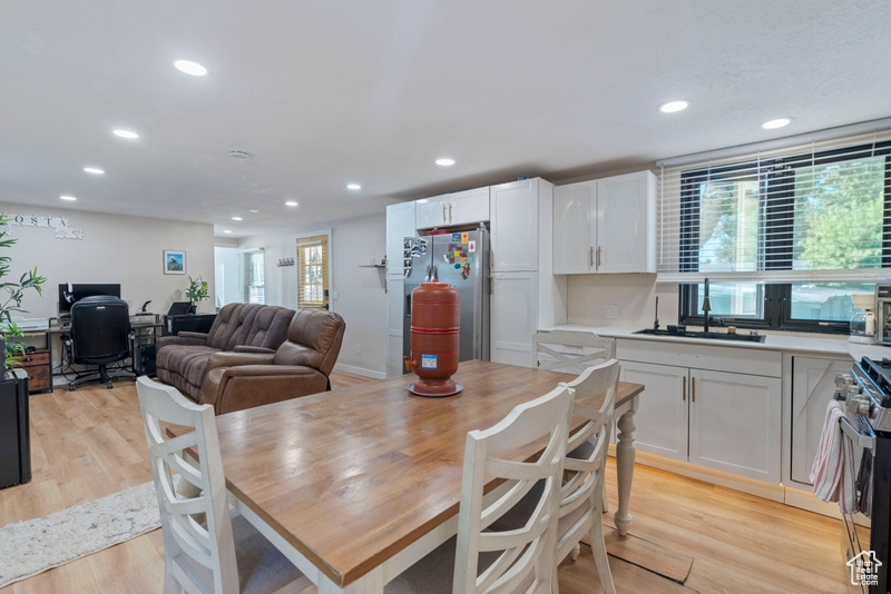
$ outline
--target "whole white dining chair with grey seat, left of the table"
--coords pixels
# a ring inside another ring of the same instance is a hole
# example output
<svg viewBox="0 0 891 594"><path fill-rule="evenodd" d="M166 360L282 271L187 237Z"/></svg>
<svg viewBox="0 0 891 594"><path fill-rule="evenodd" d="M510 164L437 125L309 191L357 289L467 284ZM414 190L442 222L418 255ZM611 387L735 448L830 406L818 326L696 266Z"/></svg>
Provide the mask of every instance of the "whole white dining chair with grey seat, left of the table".
<svg viewBox="0 0 891 594"><path fill-rule="evenodd" d="M136 389L160 509L165 594L300 592L310 586L244 517L231 517L214 407L146 377ZM161 424L194 430L170 437Z"/></svg>

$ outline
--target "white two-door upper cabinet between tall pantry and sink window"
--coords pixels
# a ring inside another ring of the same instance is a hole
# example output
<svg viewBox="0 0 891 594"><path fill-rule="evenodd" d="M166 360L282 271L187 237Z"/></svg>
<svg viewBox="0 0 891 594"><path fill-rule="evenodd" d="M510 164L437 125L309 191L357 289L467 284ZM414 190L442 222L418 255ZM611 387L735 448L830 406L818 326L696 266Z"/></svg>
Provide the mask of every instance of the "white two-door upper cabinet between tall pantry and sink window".
<svg viewBox="0 0 891 594"><path fill-rule="evenodd" d="M554 274L656 271L656 176L554 188Z"/></svg>

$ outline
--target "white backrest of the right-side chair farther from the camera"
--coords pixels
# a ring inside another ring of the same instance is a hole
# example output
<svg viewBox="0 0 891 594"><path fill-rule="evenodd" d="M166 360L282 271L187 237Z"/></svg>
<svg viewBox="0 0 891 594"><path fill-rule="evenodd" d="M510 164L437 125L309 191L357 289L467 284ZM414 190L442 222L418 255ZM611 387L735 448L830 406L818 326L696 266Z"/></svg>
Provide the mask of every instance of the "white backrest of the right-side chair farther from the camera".
<svg viewBox="0 0 891 594"><path fill-rule="evenodd" d="M609 432L613 427L613 412L616 406L616 390L619 382L619 362L610 359L595 367L588 367L575 380L560 384L570 389L574 397L572 415L586 423L569 435L567 456L564 463L565 483L560 495L560 517L576 512L572 526L558 536L558 560L587 533L587 521L599 507L603 498L604 468L609 451ZM604 394L598 409L579 403L579 399ZM594 518L600 522L599 517Z"/></svg>

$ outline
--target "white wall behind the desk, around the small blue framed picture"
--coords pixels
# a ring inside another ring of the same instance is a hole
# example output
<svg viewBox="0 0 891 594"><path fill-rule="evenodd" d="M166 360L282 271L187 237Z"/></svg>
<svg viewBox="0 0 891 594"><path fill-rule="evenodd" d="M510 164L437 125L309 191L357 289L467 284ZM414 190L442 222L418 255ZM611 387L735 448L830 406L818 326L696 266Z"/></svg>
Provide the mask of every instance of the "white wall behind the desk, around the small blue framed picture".
<svg viewBox="0 0 891 594"><path fill-rule="evenodd" d="M12 257L8 278L18 280L35 266L47 277L42 297L33 291L26 295L25 317L55 317L60 283L118 283L131 313L151 299L147 309L165 314L170 303L185 300L183 291L188 286L188 276L164 274L165 249L185 250L186 275L202 276L214 295L212 225L8 202L0 202L0 211L8 217L65 217L84 234L82 239L59 239L50 227L9 227L7 237L17 242L0 248L0 254ZM212 300L202 301L198 308L199 313L213 310Z"/></svg>

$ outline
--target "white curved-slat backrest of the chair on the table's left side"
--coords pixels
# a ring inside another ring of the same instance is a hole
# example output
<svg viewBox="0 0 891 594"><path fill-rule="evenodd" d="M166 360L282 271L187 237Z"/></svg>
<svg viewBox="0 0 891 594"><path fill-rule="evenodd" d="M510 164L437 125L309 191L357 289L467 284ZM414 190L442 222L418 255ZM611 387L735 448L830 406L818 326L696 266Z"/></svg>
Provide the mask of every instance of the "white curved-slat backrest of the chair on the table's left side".
<svg viewBox="0 0 891 594"><path fill-rule="evenodd" d="M213 406L198 406L176 388L146 377L137 380L136 390L158 495L167 576L175 576L186 592L238 592ZM161 423L194 430L169 437ZM198 461L187 451L197 454ZM175 476L193 488L182 484L177 488ZM197 495L188 497L184 492Z"/></svg>

